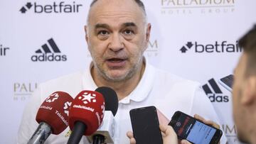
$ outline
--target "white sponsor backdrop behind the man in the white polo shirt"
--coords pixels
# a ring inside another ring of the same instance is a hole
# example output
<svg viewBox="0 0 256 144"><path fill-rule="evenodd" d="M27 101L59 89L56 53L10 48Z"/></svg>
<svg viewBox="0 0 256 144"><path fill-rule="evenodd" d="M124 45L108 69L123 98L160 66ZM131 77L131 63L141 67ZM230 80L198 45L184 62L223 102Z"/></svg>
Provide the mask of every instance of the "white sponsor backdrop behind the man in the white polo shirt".
<svg viewBox="0 0 256 144"><path fill-rule="evenodd" d="M232 97L218 79L233 73L241 53L236 41L255 23L256 1L144 4L152 25L145 56L156 67L207 84L224 134L229 143L237 143ZM83 30L89 5L87 0L0 0L0 143L14 143L23 108L37 84L85 69L90 62ZM43 55L50 57L46 61ZM221 92L213 91L212 78Z"/></svg>

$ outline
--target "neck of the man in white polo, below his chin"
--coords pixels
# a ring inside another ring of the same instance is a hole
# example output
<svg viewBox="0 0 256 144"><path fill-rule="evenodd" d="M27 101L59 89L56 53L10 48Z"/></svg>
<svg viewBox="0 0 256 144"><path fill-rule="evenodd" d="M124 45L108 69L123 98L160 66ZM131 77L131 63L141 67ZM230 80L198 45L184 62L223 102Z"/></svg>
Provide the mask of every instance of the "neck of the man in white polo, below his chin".
<svg viewBox="0 0 256 144"><path fill-rule="evenodd" d="M131 78L118 82L107 80L100 74L97 74L97 70L95 70L95 67L92 67L91 74L97 87L111 87L112 89L114 89L115 92L117 92L118 100L121 100L128 96L137 87L140 79L142 79L145 66L146 64L142 62L142 65L139 67L138 72L134 73Z"/></svg>

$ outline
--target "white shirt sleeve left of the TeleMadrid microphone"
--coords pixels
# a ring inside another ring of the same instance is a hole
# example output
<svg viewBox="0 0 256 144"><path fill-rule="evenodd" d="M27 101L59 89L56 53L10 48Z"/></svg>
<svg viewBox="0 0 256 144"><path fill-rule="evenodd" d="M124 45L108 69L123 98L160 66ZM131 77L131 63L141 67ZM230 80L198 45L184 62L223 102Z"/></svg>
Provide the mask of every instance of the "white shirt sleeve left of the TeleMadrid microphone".
<svg viewBox="0 0 256 144"><path fill-rule="evenodd" d="M23 116L21 118L21 124L18 129L16 143L28 143L28 140L36 131L36 128L38 127L38 123L36 122L36 113L40 105L41 96L40 89L38 88L35 90L35 92L33 92L31 99L28 101L28 104L23 110Z"/></svg>

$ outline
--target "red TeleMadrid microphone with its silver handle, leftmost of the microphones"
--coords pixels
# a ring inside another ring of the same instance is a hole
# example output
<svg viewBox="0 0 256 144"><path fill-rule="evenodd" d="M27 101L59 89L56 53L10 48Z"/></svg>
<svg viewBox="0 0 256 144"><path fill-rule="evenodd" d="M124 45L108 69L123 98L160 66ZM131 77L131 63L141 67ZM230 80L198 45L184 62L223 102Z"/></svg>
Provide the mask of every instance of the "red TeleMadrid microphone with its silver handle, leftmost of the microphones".
<svg viewBox="0 0 256 144"><path fill-rule="evenodd" d="M72 101L73 97L65 92L50 94L38 109L36 121L39 126L28 144L44 143L51 133L58 135L63 132L68 127L68 113Z"/></svg>

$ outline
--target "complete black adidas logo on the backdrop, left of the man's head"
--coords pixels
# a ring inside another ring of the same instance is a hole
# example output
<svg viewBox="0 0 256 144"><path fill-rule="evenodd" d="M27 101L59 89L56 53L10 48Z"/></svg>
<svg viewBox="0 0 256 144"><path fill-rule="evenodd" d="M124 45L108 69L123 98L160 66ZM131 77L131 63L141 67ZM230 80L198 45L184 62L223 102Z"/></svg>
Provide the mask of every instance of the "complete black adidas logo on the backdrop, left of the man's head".
<svg viewBox="0 0 256 144"><path fill-rule="evenodd" d="M60 61L66 61L67 55L57 55L60 53L60 49L54 42L53 38L50 38L48 40L48 44L50 45L50 48L48 47L47 43L42 45L43 51L41 49L36 50L36 54L38 55L32 55L31 60L33 62L60 62Z"/></svg>

